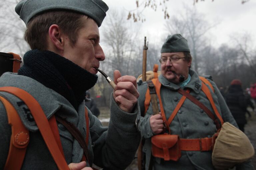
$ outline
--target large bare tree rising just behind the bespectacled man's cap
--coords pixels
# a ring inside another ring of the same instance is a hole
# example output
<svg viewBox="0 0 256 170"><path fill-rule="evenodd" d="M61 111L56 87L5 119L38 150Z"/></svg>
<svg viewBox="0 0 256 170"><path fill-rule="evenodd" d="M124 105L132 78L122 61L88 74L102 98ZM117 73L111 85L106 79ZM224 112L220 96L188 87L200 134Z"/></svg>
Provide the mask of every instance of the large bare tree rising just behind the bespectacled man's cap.
<svg viewBox="0 0 256 170"><path fill-rule="evenodd" d="M202 57L200 56L200 51L207 45L205 34L216 24L209 25L195 7L184 5L184 10L184 14L180 13L166 21L165 26L168 34L179 33L188 40L193 57L192 67L198 72Z"/></svg>

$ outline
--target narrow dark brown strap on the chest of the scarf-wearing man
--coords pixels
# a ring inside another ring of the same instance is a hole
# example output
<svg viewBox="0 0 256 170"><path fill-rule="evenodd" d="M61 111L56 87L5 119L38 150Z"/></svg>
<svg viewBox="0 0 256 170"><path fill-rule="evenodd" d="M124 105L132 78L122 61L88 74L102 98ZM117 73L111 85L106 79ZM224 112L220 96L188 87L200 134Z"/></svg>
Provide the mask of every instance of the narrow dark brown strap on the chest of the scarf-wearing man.
<svg viewBox="0 0 256 170"><path fill-rule="evenodd" d="M60 116L56 115L56 120L59 123L61 123L65 128L67 128L67 130L75 137L75 139L78 141L78 143L84 150L86 160L89 162L88 147L87 147L87 144L86 144L86 141L85 141L83 135L78 130L78 128L76 128L72 123L68 122L66 119L61 118Z"/></svg>

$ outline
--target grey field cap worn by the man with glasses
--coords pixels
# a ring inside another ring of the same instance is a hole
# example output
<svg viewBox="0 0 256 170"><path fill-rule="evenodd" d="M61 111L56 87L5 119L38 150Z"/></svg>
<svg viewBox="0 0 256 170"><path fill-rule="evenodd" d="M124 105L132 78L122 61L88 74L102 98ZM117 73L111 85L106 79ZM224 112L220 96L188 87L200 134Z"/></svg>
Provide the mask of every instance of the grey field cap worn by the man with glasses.
<svg viewBox="0 0 256 170"><path fill-rule="evenodd" d="M190 52L187 40L180 34L168 35L161 53L164 52Z"/></svg>

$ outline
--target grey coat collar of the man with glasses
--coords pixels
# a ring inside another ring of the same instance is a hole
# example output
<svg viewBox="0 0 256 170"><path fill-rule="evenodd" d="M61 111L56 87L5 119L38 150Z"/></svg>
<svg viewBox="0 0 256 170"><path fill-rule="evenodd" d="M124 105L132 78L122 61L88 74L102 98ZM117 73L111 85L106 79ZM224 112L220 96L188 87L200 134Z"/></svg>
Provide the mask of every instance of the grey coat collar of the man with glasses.
<svg viewBox="0 0 256 170"><path fill-rule="evenodd" d="M199 79L199 76L198 74L192 70L192 69L189 69L189 74L191 76L191 80L190 82L184 87L184 89L191 89L193 90L195 93L199 93L200 90L201 90L201 87L202 87L202 83L201 83L201 80ZM171 90L178 90L180 88L180 86L178 86L177 84L174 84L172 82L170 82L169 80L167 80L163 75L160 75L158 77L160 83L171 89Z"/></svg>

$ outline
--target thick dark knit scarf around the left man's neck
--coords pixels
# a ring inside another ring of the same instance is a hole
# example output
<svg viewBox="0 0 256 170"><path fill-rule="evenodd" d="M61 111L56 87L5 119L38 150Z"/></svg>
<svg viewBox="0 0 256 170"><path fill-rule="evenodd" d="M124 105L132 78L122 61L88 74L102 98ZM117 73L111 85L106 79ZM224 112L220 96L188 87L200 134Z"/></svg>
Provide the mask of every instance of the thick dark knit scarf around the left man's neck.
<svg viewBox="0 0 256 170"><path fill-rule="evenodd" d="M51 51L31 50L25 53L18 74L35 79L65 97L78 110L86 90L98 76Z"/></svg>

